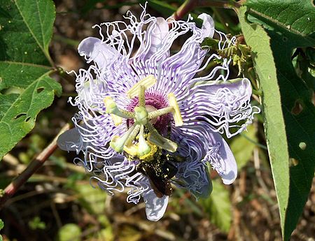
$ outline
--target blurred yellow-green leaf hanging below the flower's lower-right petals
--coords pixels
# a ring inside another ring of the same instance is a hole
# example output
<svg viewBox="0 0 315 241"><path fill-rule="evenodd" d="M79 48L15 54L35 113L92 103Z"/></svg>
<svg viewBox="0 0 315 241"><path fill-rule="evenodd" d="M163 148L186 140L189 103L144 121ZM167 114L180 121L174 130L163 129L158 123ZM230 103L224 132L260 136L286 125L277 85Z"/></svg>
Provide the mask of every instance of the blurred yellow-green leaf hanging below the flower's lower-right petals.
<svg viewBox="0 0 315 241"><path fill-rule="evenodd" d="M213 180L212 185L214 191L209 198L200 199L200 204L209 214L210 221L218 226L221 231L228 233L232 221L232 205L229 191L218 180Z"/></svg>

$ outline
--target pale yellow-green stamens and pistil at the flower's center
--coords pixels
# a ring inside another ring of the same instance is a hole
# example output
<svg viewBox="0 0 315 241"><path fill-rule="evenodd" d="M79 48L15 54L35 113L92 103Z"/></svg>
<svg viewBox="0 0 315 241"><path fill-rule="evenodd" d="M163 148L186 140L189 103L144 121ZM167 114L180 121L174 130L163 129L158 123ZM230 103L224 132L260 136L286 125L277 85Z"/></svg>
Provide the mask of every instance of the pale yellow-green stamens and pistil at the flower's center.
<svg viewBox="0 0 315 241"><path fill-rule="evenodd" d="M127 119L129 129L123 136L114 136L111 140L111 147L116 152L127 152L131 156L137 156L139 159L146 159L153 156L157 152L158 147L169 152L176 152L177 144L160 135L155 129L155 122L158 118L172 113L175 126L183 125L179 105L174 94L168 95L169 106L157 109L153 105L146 105L146 89L152 87L156 83L153 75L149 75L139 81L128 92L129 98L138 96L138 104L133 111L122 110L118 108L115 101L111 97L104 98L106 113L111 114L113 122L116 125L122 123L122 118Z"/></svg>

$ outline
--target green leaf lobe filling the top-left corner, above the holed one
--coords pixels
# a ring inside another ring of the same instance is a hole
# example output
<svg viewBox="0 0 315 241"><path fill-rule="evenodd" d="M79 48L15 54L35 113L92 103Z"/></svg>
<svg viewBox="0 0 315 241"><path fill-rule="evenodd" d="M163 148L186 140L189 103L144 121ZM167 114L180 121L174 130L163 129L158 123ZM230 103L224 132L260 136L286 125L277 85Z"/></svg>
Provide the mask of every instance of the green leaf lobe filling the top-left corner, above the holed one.
<svg viewBox="0 0 315 241"><path fill-rule="evenodd" d="M51 0L3 0L1 2L1 61L52 63L48 46L55 21Z"/></svg>

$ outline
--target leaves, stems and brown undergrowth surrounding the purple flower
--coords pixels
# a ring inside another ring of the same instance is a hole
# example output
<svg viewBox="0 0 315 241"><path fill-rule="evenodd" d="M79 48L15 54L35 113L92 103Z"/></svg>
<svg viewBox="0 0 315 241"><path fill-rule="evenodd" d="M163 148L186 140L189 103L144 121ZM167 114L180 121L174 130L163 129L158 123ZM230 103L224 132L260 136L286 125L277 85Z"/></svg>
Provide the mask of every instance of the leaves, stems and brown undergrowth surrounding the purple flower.
<svg viewBox="0 0 315 241"><path fill-rule="evenodd" d="M253 104L262 103L263 111L247 133L229 140L239 177L225 186L211 173L210 198L196 202L176 189L165 217L154 223L146 220L144 203L128 204L125 193L109 196L90 187L89 175L72 162L75 153L50 146L43 155L76 112L67 103L76 96L75 81L64 71L87 67L78 43L98 36L94 24L123 20L127 10L139 15L139 3L0 0L3 240L267 241L281 240L281 230L288 240L296 224L290 240L315 240L312 1L186 1L185 8L180 0L148 1L155 16L209 13L216 29L251 48L232 53L230 78L241 68L253 83ZM4 189L34 161L45 163L8 198Z"/></svg>

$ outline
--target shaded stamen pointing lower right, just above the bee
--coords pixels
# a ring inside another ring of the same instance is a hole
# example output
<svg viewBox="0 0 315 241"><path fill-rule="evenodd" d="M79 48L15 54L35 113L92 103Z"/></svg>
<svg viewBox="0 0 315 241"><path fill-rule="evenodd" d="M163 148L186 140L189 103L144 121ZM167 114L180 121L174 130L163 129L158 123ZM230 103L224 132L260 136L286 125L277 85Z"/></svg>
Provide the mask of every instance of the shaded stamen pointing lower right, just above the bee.
<svg viewBox="0 0 315 241"><path fill-rule="evenodd" d="M158 131L154 128L154 126L150 122L146 124L146 129L148 129L148 131L150 132L150 136L148 137L148 140L151 143L158 145L162 149L166 149L169 152L176 152L177 144L174 143L174 141L161 136L160 133L158 133Z"/></svg>

